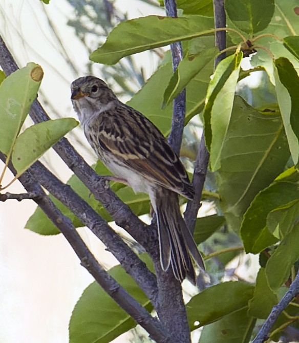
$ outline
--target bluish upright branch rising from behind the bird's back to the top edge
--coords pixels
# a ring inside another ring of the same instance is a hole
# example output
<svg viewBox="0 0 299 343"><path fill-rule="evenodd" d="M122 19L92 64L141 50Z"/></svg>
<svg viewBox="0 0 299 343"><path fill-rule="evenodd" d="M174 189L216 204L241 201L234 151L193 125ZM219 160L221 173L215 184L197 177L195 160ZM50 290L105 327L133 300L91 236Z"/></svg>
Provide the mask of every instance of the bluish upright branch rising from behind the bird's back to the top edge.
<svg viewBox="0 0 299 343"><path fill-rule="evenodd" d="M177 17L177 5L175 0L165 0L166 14L169 17ZM180 61L183 58L183 49L180 41L170 44L172 52L173 70L178 68ZM184 89L173 102L173 117L172 128L168 136L168 143L172 146L174 151L180 155L184 121L186 113L186 90Z"/></svg>

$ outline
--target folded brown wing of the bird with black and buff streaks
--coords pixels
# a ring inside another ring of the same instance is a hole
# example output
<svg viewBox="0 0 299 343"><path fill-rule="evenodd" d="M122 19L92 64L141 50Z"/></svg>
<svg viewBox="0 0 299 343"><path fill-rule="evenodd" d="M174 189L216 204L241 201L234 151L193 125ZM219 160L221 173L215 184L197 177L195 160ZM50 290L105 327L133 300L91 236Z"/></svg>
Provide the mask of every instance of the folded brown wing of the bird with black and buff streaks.
<svg viewBox="0 0 299 343"><path fill-rule="evenodd" d="M125 165L162 187L193 199L186 170L158 128L129 106L102 113L99 141Z"/></svg>

